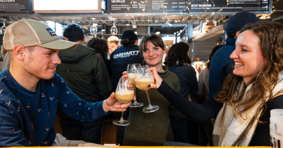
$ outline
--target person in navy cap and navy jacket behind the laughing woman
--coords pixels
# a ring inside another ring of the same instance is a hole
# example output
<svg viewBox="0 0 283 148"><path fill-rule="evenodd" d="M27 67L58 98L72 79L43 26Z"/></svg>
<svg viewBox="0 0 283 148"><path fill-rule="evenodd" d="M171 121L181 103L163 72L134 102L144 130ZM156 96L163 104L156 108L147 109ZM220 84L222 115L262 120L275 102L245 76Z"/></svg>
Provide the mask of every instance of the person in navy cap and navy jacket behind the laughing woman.
<svg viewBox="0 0 283 148"><path fill-rule="evenodd" d="M209 68L209 98L218 92L222 87L225 77L231 69L230 58L231 53L235 49L235 42L240 33L240 29L247 23L255 23L259 21L254 13L238 12L233 15L227 22L225 31L227 33L226 44L218 49L211 59Z"/></svg>

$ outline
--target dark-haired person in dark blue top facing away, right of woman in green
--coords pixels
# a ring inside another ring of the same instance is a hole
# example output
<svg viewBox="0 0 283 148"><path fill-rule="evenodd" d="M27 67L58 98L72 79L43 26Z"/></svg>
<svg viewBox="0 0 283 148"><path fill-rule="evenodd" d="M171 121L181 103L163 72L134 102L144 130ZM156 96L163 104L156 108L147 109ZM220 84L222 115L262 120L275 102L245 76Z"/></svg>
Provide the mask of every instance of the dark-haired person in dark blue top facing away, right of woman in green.
<svg viewBox="0 0 283 148"><path fill-rule="evenodd" d="M180 81L180 95L188 99L189 94L194 94L198 90L198 80L196 78L196 71L190 64L192 60L189 57L190 46L184 42L173 44L165 58L164 64L168 70L175 73ZM187 127L186 116L179 112L175 107L169 111L171 127L173 130L174 141L188 143L188 132L198 132L198 124L195 122L188 122ZM192 130L190 130L192 129ZM191 139L191 140L190 140ZM189 138L190 143L198 141L194 138Z"/></svg>

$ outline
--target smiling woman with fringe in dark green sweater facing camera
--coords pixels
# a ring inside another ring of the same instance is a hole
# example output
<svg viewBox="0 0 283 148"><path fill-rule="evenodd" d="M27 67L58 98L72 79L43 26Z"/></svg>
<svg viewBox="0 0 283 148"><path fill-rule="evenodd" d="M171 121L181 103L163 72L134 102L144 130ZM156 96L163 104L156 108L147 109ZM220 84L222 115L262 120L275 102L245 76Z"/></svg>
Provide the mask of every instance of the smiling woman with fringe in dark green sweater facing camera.
<svg viewBox="0 0 283 148"><path fill-rule="evenodd" d="M170 88L179 92L178 77L162 66L163 54L166 47L160 36L148 35L140 42L140 53L149 67L155 67L159 75ZM130 107L128 121L130 125L125 127L124 146L162 146L167 141L173 141L172 128L169 119L170 103L157 90L148 91L152 105L158 105L159 109L152 113L145 113L140 107ZM147 95L143 90L136 88L136 96L139 102L147 104Z"/></svg>

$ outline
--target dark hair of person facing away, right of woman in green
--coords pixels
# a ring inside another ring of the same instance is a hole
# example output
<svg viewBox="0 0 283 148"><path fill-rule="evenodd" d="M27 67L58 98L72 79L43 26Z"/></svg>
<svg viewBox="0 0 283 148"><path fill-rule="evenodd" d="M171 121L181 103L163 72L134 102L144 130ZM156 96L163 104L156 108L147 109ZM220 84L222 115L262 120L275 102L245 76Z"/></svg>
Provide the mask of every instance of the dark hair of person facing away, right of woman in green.
<svg viewBox="0 0 283 148"><path fill-rule="evenodd" d="M188 56L190 46L184 42L173 44L166 55L165 65L182 66L184 64L191 64L192 60Z"/></svg>

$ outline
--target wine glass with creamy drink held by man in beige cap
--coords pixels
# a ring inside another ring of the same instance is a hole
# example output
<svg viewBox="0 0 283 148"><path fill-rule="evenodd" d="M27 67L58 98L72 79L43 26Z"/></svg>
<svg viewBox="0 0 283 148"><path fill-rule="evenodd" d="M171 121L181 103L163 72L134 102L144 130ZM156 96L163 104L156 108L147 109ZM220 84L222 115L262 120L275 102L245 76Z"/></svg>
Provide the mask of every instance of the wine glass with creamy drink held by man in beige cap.
<svg viewBox="0 0 283 148"><path fill-rule="evenodd" d="M129 103L134 99L134 87L130 84L129 80L120 78L116 88L115 98L122 104ZM121 126L126 126L130 124L129 121L123 120L123 109L121 119L114 120L113 123Z"/></svg>

